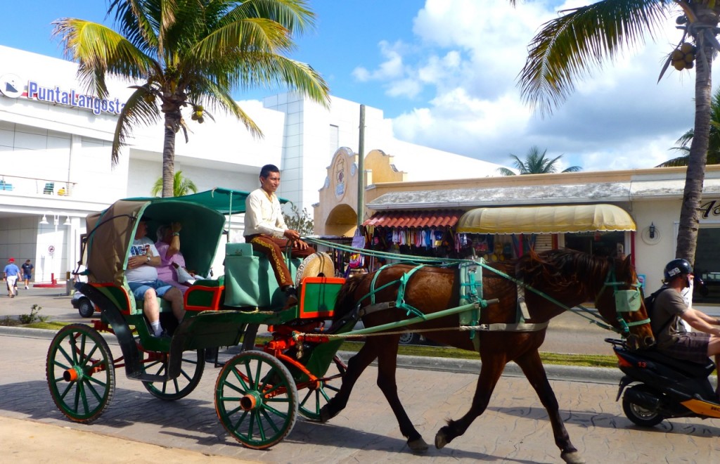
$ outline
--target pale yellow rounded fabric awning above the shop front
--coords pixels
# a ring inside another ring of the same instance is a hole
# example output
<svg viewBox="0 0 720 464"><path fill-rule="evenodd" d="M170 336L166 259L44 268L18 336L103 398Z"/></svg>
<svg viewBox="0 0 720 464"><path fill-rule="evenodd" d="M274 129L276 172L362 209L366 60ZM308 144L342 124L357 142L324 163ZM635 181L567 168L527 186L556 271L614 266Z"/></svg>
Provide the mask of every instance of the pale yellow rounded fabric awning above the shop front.
<svg viewBox="0 0 720 464"><path fill-rule="evenodd" d="M561 234L635 230L624 209L612 204L477 208L460 218L457 232L474 234Z"/></svg>

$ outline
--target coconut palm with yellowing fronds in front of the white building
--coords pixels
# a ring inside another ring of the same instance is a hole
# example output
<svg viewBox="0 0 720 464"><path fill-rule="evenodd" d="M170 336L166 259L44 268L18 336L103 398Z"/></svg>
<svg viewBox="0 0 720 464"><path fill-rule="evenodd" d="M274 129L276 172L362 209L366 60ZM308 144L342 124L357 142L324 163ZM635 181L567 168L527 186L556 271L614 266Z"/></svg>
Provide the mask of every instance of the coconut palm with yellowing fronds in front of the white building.
<svg viewBox="0 0 720 464"><path fill-rule="evenodd" d="M231 91L280 84L328 102L323 78L284 55L294 48L293 35L314 25L306 0L109 0L107 14L117 31L63 18L53 35L99 98L107 96L108 75L142 82L131 86L118 117L112 163L133 126L164 118L163 196L173 194L176 133L187 141L184 109L199 123L212 118L205 106L228 112L261 135Z"/></svg>

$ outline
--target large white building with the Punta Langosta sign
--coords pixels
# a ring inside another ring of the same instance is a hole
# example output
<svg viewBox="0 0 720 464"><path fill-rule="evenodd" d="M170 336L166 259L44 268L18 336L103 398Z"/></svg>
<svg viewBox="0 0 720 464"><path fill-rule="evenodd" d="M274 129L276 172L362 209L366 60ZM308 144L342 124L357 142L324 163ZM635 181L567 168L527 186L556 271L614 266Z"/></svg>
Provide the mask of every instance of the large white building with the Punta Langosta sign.
<svg viewBox="0 0 720 464"><path fill-rule="evenodd" d="M85 95L76 71L75 63L0 45L0 263L11 256L18 263L32 260L35 281L73 270L87 214L117 199L150 196L161 177L161 124L136 128L111 165L117 114L130 83L109 81L109 97L100 101ZM280 196L310 210L333 153L358 147L360 105L333 97L325 108L293 93L240 105L264 137L253 137L224 114L202 125L189 121L189 142L181 133L176 139L175 170L199 191L249 191L258 186L261 166L272 163L282 170ZM418 160L420 153L451 155L394 140L390 121L374 108L366 108L364 146L410 159L418 154ZM477 166L474 176L498 168L464 160L466 175L467 163ZM241 218L234 219L230 240L242 240Z"/></svg>

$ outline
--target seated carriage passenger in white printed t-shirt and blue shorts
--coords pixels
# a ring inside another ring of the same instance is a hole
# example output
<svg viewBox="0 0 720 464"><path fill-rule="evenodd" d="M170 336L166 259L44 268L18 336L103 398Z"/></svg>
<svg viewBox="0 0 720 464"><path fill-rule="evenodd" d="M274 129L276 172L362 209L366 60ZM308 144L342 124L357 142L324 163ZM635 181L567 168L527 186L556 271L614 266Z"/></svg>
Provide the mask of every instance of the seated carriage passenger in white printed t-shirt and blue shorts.
<svg viewBox="0 0 720 464"><path fill-rule="evenodd" d="M173 314L181 322L185 310L183 308L182 292L174 286L158 280L158 270L161 264L158 250L148 237L147 219L140 218L138 229L135 231L135 240L130 247L130 258L127 258L125 278L135 299L143 300L143 311L150 321L153 335L163 335L160 324L160 305L157 297L170 301Z"/></svg>

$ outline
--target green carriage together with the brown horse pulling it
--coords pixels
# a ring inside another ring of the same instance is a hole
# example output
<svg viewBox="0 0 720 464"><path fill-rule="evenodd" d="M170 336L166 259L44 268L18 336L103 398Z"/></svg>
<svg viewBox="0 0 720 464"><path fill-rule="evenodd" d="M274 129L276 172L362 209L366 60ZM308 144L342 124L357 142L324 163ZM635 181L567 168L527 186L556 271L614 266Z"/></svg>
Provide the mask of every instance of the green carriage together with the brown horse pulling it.
<svg viewBox="0 0 720 464"><path fill-rule="evenodd" d="M225 245L223 276L195 281L186 291L184 319L171 327L172 337L151 336L124 272L138 219L149 217L150 230L183 222L186 263L207 275L228 221L225 215L243 212L245 196L217 188L168 199L120 200L88 218L89 283L80 290L102 309L101 319L94 327L71 324L60 329L48 352L50 394L66 417L85 423L97 419L112 399L114 369L120 367L128 378L143 382L150 394L180 399L199 383L205 350L241 345L217 377L215 409L225 429L243 445L274 445L290 432L298 413L316 421L332 418L346 406L363 370L377 359L378 385L400 432L408 437L411 450L423 451L428 446L405 414L395 386L402 327L480 352L483 361L472 407L438 431L436 447L462 435L482 414L504 365L515 361L548 409L562 457L580 462L538 355L547 322L594 299L608 327L629 336L632 345L652 343L629 259L554 250L492 266L482 260L410 261L346 282L333 277L329 257L320 258L325 263L315 266L320 275L301 273L297 279L300 304L274 311L282 308L283 300L269 263L248 244L236 243ZM303 264L289 262L289 268ZM359 317L366 328L351 330ZM325 332L323 323L330 318L333 325ZM261 324L269 326L272 339L256 345ZM120 358L113 357L101 332L117 337ZM346 366L336 352L343 336L354 335L372 336Z"/></svg>

